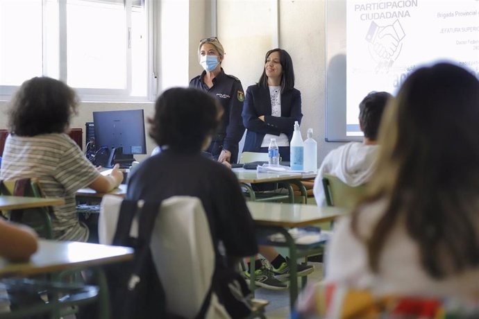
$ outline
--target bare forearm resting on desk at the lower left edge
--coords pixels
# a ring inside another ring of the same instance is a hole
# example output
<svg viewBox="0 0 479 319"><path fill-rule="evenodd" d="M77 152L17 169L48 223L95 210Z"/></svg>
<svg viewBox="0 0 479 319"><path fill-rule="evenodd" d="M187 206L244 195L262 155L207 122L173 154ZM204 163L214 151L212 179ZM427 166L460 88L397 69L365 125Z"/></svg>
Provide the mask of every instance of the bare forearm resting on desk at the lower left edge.
<svg viewBox="0 0 479 319"><path fill-rule="evenodd" d="M38 249L37 234L25 225L0 219L0 256L12 260L28 259Z"/></svg>

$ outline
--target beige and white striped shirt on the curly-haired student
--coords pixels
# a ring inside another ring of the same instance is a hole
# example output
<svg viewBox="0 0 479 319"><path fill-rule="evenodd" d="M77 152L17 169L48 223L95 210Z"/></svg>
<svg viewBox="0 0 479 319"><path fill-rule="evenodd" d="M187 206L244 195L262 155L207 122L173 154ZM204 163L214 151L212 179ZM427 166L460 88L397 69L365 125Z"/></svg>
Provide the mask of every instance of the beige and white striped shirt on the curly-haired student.
<svg viewBox="0 0 479 319"><path fill-rule="evenodd" d="M88 228L78 221L75 193L101 174L65 133L20 137L8 135L0 179L38 178L47 197L65 198L53 207L53 237L62 241L87 241Z"/></svg>

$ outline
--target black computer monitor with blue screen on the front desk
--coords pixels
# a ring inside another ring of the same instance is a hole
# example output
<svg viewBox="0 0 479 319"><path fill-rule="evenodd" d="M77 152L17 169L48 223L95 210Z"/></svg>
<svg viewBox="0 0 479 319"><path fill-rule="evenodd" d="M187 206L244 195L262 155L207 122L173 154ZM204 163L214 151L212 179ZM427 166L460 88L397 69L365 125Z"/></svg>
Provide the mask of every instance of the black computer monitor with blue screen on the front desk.
<svg viewBox="0 0 479 319"><path fill-rule="evenodd" d="M96 164L126 167L133 155L146 154L143 110L93 112L93 123L96 149L108 153L108 160Z"/></svg>

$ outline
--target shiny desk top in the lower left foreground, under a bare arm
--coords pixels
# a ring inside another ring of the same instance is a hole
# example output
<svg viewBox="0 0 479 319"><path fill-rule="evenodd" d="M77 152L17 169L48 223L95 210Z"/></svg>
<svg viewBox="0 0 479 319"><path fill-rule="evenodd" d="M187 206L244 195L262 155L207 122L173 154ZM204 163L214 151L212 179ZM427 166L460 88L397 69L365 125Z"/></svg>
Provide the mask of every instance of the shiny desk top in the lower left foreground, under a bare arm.
<svg viewBox="0 0 479 319"><path fill-rule="evenodd" d="M133 259L133 248L41 239L30 261L0 257L0 277L23 277L71 268L83 268Z"/></svg>

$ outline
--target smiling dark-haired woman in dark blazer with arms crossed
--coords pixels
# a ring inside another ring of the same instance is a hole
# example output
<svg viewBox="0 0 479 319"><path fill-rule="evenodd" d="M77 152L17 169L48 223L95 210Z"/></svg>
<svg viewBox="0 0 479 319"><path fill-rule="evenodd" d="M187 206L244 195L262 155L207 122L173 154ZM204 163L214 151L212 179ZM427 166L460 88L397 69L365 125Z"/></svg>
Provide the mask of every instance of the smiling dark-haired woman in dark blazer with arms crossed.
<svg viewBox="0 0 479 319"><path fill-rule="evenodd" d="M283 49L272 49L264 58L257 84L246 90L243 124L247 129L243 151L267 153L276 138L280 157L289 161L289 141L294 121L301 123L301 92L294 88L293 62Z"/></svg>

